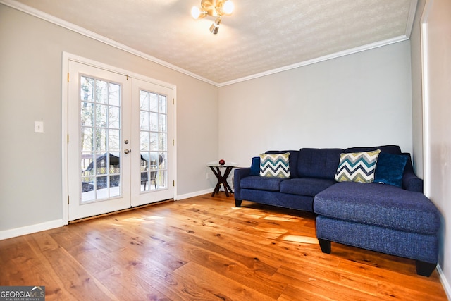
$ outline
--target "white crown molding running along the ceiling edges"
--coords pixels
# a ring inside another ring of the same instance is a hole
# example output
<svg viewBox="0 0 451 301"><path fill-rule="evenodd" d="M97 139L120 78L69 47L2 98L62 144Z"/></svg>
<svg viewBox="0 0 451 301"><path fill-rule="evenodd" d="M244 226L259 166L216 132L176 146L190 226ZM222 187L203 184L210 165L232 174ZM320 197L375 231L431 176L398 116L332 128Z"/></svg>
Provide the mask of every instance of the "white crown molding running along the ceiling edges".
<svg viewBox="0 0 451 301"><path fill-rule="evenodd" d="M114 41L112 39L104 37L102 35L98 35L95 32L92 32L90 30L86 30L83 27L80 27L80 26L75 25L73 23L69 23L69 22L67 22L65 20L61 20L60 18L56 18L54 16L51 16L48 13L44 13L42 11L39 11L39 10L37 10L35 8L32 8L32 7L27 6L25 4L22 4L22 3L20 3L20 2L18 2L16 0L0 0L0 4L5 4L6 6L10 6L11 8L15 8L18 11L23 11L24 13L27 13L27 14L29 14L31 16L35 16L35 17L40 18L42 20L46 20L49 23L53 23L55 25L58 25L58 26L66 28L68 30L71 30L73 32L77 32L80 35L85 35L86 37L90 37L90 38L95 39L95 40L97 40L99 42L102 42L104 44L108 44L111 47L116 47L117 49L121 49L121 50L126 51L126 52L128 52L130 54L134 54L136 56L140 56L143 59L147 59L148 61L152 61L154 63L158 63L161 66L170 68L172 70L178 71L178 72L183 73L185 75L189 75L192 78L196 78L197 80L202 80L203 82L206 82L206 83L208 83L210 85L214 85L216 87L224 87L224 86L227 86L227 85L236 84L238 82L245 82L247 80L253 80L255 78L261 78L261 77L266 76L266 75L280 73L280 72L283 72L283 71L292 70L292 69L299 68L299 67L302 67L302 66L308 66L308 65L311 65L311 64L314 64L314 63L319 63L321 61L327 61L327 60L330 60L330 59L336 59L336 58L339 58L341 56L347 56L347 55L350 55L350 54L355 54L357 52L366 51L366 50L370 50L370 49L374 49L374 48L378 48L378 47L383 47L383 46L386 46L386 45L389 45L389 44L393 44L393 43L397 43L397 42L403 42L403 41L405 41L405 40L410 38L410 34L412 32L412 27L413 27L413 24L414 24L414 18L415 18L415 12L416 12L416 6L418 4L418 0L411 0L409 16L408 16L408 19L407 19L406 34L405 35L401 35L399 37L394 37L392 39L385 39L385 40L380 41L380 42L366 44L366 45L363 45L363 46L360 46L360 47L355 47L355 48L347 49L347 50L344 50L344 51L335 52L333 54L328 54L326 56L320 56L320 57L315 58L315 59L310 59L310 60L307 60L307 61L294 63L292 65L283 66L283 67L272 69L272 70L267 70L267 71L264 71L264 72L261 72L261 73L256 73L254 75L249 75L249 76L246 76L246 77L243 77L243 78L237 78L235 80L230 80L228 82L214 82L213 80L209 80L208 78L204 78L204 77L202 77L200 75L197 75L197 74L192 73L192 72L190 72L188 70L185 70L183 68L175 66L175 65L173 65L171 63L168 63L166 61L162 61L161 59L157 59L156 57L150 56L149 54L144 54L144 52L142 52L142 51L138 51L137 49L133 49L131 47L128 47L127 45L121 44L121 43L116 42L116 41Z"/></svg>

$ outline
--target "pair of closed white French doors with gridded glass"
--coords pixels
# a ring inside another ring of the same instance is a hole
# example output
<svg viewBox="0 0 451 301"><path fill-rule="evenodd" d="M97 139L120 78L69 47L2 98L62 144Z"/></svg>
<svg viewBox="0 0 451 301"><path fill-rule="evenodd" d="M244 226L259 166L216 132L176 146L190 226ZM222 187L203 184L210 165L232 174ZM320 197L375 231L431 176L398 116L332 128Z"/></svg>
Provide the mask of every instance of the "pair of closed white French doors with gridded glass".
<svg viewBox="0 0 451 301"><path fill-rule="evenodd" d="M68 221L173 198L173 90L68 62Z"/></svg>

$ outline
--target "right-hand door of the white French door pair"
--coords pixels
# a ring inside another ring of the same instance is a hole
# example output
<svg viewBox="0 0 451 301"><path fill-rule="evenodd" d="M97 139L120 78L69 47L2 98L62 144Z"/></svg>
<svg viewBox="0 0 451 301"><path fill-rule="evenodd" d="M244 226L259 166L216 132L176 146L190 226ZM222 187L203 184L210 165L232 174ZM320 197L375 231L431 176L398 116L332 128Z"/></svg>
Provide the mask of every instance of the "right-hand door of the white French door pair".
<svg viewBox="0 0 451 301"><path fill-rule="evenodd" d="M136 78L131 83L135 207L173 197L173 90Z"/></svg>

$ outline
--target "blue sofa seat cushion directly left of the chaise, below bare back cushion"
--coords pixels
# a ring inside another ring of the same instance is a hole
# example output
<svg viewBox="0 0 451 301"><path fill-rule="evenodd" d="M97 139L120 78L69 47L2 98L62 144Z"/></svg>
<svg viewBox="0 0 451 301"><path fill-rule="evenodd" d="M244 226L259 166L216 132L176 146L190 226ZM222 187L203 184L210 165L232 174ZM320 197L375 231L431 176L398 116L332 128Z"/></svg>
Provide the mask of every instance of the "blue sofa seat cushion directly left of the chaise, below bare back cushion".
<svg viewBox="0 0 451 301"><path fill-rule="evenodd" d="M280 183L280 192L292 195L309 195L314 197L319 192L335 184L335 180L320 178L294 178Z"/></svg>

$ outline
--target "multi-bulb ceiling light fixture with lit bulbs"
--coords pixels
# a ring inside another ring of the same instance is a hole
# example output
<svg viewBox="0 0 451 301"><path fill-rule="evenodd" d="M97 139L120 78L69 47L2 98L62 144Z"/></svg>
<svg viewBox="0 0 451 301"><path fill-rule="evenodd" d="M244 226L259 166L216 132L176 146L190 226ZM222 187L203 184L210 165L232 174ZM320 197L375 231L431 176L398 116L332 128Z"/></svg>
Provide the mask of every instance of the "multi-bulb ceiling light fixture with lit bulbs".
<svg viewBox="0 0 451 301"><path fill-rule="evenodd" d="M194 19L204 18L206 15L216 17L216 20L210 26L210 32L216 35L221 24L221 16L233 13L235 6L231 0L201 0L201 8L193 6L191 16Z"/></svg>

